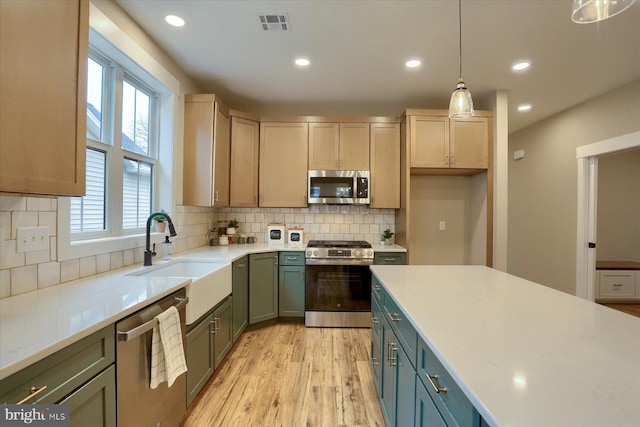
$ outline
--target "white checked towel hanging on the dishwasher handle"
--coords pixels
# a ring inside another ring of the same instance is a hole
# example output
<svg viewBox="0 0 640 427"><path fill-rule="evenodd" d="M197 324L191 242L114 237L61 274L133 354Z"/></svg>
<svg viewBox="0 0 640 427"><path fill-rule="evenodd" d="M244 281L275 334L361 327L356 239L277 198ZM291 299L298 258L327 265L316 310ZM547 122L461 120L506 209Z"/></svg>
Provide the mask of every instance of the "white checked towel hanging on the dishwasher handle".
<svg viewBox="0 0 640 427"><path fill-rule="evenodd" d="M169 387L184 372L187 362L182 346L180 314L175 307L169 307L156 316L158 324L153 327L151 341L151 388L157 388L164 381Z"/></svg>

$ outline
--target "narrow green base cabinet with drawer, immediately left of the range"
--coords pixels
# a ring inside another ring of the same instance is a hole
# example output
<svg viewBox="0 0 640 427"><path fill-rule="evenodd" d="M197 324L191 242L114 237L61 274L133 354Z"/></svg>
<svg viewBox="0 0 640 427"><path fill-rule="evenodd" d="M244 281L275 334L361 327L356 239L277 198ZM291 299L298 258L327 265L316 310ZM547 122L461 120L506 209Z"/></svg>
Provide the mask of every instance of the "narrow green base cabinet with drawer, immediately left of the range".
<svg viewBox="0 0 640 427"><path fill-rule="evenodd" d="M280 252L280 317L304 317L304 251Z"/></svg>

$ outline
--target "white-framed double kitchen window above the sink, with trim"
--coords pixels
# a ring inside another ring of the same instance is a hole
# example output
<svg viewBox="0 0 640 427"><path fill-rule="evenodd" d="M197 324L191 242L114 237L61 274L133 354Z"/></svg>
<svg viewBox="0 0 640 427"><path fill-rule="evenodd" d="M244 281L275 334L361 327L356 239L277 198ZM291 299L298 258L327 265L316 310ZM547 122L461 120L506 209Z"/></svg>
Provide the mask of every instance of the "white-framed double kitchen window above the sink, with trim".
<svg viewBox="0 0 640 427"><path fill-rule="evenodd" d="M143 246L149 214L172 203L177 81L93 28L89 44L86 194L58 199L61 261Z"/></svg>

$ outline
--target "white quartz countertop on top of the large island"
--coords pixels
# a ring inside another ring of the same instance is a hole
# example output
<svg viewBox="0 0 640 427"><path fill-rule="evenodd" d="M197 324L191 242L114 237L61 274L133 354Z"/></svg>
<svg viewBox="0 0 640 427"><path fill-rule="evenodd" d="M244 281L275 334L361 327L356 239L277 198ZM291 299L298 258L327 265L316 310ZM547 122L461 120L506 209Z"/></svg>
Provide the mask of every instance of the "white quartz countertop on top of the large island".
<svg viewBox="0 0 640 427"><path fill-rule="evenodd" d="M482 266L372 266L492 426L640 426L640 318Z"/></svg>

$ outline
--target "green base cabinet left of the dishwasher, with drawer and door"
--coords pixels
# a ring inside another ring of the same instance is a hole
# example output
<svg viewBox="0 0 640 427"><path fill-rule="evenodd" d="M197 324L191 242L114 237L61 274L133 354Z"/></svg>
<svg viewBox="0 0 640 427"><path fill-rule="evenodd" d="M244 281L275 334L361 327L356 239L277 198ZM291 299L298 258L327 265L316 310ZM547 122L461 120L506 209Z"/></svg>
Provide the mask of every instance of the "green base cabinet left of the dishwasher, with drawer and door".
<svg viewBox="0 0 640 427"><path fill-rule="evenodd" d="M115 327L110 325L0 381L0 402L67 404L70 425L116 425Z"/></svg>

